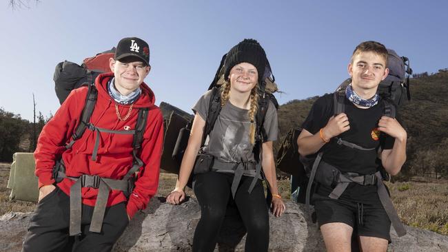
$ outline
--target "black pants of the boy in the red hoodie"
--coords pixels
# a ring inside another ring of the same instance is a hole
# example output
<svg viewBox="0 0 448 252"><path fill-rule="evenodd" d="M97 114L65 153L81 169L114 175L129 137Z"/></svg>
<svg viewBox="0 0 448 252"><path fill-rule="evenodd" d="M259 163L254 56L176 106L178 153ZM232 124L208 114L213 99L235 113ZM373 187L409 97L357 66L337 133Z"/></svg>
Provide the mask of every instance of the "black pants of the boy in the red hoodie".
<svg viewBox="0 0 448 252"><path fill-rule="evenodd" d="M106 207L101 233L89 231L93 207L82 205L82 235L70 237L70 198L56 187L34 211L22 251L111 251L129 220L125 203Z"/></svg>

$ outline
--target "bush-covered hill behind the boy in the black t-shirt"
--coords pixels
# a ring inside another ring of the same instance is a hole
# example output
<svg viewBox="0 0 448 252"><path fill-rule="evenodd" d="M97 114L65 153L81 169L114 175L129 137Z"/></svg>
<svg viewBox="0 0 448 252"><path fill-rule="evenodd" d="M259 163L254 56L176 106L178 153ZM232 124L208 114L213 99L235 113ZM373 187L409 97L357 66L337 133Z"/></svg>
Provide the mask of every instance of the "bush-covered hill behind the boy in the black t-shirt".
<svg viewBox="0 0 448 252"><path fill-rule="evenodd" d="M335 89L338 85L335 81ZM411 78L411 101L400 107L398 120L407 130L407 162L404 176L448 175L448 72ZM318 96L294 100L278 108L279 139L290 127L299 127ZM279 143L278 143L279 144ZM278 147L278 144L276 145Z"/></svg>

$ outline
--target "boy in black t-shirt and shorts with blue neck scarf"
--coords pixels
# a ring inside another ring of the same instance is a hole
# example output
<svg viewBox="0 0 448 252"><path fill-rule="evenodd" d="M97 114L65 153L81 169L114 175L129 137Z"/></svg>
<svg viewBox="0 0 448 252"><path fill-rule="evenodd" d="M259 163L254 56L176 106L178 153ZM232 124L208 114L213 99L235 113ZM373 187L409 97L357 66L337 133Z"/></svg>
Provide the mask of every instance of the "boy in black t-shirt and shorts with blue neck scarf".
<svg viewBox="0 0 448 252"><path fill-rule="evenodd" d="M377 94L387 68L387 50L375 41L360 43L352 55L348 72L352 83L345 92L345 112L334 115L334 95L314 103L298 136L302 156L323 151L322 160L343 174L375 174L383 165L396 175L406 160L405 129L394 118L383 116L384 103ZM369 151L338 145L338 138ZM383 151L378 159L377 150ZM376 185L349 186L337 199L329 198L332 188L320 185L314 193L314 207L327 251L350 251L353 230L363 251L387 251L391 222L378 198Z"/></svg>

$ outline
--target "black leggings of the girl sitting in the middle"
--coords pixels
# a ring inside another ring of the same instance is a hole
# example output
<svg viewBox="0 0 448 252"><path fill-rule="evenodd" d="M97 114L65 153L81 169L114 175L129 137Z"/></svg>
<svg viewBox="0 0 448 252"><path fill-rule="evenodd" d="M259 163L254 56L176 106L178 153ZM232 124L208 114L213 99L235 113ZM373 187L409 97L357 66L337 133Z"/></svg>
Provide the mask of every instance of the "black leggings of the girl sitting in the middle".
<svg viewBox="0 0 448 252"><path fill-rule="evenodd" d="M193 251L213 251L227 203L232 194L233 174L210 171L194 178L194 193L201 206L199 220L193 238ZM245 251L267 251L269 246L269 215L261 180L251 193L247 192L252 177L243 176L236 191L234 202L247 230Z"/></svg>

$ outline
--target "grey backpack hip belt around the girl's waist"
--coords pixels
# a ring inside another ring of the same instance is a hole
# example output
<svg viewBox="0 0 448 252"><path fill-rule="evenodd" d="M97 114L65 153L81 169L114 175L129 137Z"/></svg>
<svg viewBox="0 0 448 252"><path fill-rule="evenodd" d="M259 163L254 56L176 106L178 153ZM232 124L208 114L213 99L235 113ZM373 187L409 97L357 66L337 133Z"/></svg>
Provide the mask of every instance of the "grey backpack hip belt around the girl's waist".
<svg viewBox="0 0 448 252"><path fill-rule="evenodd" d="M216 158L214 160L213 169L215 171L232 170L235 172L231 187L233 198L235 198L236 189L238 189L238 185L240 185L244 171L251 171L250 174L254 174L254 179L252 180L250 187L247 190L249 193L251 193L252 189L254 189L256 181L258 179L261 179L261 165L256 162L222 162Z"/></svg>

